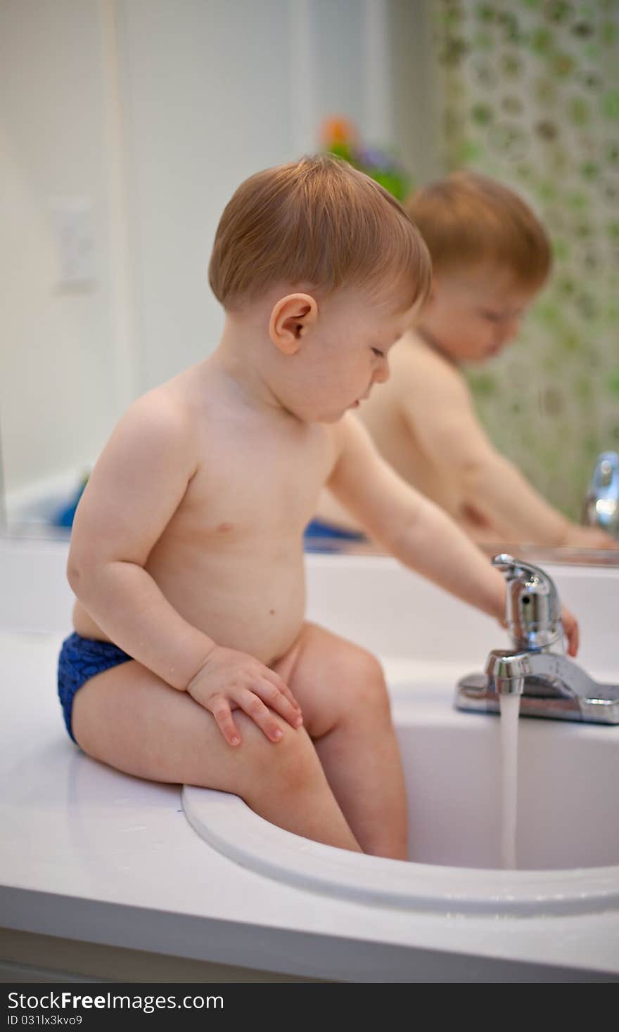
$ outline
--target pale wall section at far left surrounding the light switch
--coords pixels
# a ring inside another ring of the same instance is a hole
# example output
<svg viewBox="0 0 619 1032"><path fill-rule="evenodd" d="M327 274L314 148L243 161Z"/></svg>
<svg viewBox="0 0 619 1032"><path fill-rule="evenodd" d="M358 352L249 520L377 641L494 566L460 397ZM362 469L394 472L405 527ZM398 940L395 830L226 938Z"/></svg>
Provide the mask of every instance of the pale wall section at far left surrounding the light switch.
<svg viewBox="0 0 619 1032"><path fill-rule="evenodd" d="M0 6L0 428L5 479L81 469L114 413L101 26L95 3ZM88 197L95 290L57 287L50 201Z"/></svg>

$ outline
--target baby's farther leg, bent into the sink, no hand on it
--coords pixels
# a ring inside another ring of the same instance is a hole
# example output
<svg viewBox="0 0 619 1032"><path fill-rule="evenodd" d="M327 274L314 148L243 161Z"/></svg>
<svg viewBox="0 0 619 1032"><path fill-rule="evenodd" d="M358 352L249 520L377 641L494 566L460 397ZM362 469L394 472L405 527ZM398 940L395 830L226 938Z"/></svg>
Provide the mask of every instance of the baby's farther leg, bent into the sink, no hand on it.
<svg viewBox="0 0 619 1032"><path fill-rule="evenodd" d="M301 706L329 783L362 849L406 860L406 788L378 660L306 623L274 670Z"/></svg>

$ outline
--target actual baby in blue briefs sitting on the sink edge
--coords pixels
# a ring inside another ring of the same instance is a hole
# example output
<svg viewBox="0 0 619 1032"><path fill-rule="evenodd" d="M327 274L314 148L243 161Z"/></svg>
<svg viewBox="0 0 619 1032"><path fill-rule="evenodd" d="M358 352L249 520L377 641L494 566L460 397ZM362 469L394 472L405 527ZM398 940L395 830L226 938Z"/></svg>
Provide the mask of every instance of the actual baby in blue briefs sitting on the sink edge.
<svg viewBox="0 0 619 1032"><path fill-rule="evenodd" d="M382 188L318 156L242 184L210 280L217 350L128 409L78 507L67 730L120 771L230 792L289 832L404 859L382 671L305 622L303 530L329 483L402 562L503 617L501 575L349 412L388 379L427 294L425 245Z"/></svg>

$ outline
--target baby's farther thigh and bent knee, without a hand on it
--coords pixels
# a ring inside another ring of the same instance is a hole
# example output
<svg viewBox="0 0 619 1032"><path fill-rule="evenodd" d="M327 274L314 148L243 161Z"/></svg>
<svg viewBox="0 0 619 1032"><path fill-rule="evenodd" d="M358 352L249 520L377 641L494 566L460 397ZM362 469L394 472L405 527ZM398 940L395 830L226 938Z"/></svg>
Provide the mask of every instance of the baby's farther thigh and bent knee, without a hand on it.
<svg viewBox="0 0 619 1032"><path fill-rule="evenodd" d="M312 738L344 719L391 719L382 667L372 652L315 623L305 623L273 669L288 684Z"/></svg>

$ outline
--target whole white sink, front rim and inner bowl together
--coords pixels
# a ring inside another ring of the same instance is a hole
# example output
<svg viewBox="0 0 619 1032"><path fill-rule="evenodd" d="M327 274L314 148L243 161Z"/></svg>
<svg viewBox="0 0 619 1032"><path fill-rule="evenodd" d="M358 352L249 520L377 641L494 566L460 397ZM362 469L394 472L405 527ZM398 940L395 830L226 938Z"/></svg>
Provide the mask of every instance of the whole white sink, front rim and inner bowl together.
<svg viewBox="0 0 619 1032"><path fill-rule="evenodd" d="M522 915L618 905L619 728L521 718L518 869L500 870L498 717L454 710L453 690L430 679L393 689L409 863L309 842L225 793L185 786L187 818L245 867L366 903Z"/></svg>

